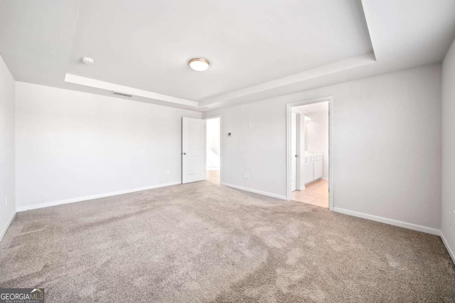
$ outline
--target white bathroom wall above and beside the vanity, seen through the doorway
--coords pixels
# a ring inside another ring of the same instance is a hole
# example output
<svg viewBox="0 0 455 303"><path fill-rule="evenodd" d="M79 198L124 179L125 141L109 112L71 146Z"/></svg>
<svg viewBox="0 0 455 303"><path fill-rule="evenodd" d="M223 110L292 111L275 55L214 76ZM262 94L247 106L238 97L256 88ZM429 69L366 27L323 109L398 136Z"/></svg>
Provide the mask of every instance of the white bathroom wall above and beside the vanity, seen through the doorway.
<svg viewBox="0 0 455 303"><path fill-rule="evenodd" d="M306 147L309 152L323 154L322 177L328 179L328 110L309 112L306 122Z"/></svg>

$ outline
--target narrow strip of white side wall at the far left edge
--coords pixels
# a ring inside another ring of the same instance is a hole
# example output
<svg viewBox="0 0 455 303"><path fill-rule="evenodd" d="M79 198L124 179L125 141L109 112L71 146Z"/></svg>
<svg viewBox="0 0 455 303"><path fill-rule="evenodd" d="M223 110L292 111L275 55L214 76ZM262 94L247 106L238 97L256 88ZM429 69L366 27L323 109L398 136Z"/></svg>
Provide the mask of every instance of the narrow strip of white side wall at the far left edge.
<svg viewBox="0 0 455 303"><path fill-rule="evenodd" d="M14 213L14 85L0 57L0 240ZM6 203L7 200L7 203Z"/></svg>

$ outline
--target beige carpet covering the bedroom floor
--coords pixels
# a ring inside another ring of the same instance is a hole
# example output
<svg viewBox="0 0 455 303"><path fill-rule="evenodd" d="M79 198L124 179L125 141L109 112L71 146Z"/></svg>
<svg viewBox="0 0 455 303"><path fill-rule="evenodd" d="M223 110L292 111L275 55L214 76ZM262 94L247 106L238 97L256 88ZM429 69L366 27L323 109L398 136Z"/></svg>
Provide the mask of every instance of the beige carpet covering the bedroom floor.
<svg viewBox="0 0 455 303"><path fill-rule="evenodd" d="M455 302L437 236L210 181L18 213L0 272L46 302Z"/></svg>

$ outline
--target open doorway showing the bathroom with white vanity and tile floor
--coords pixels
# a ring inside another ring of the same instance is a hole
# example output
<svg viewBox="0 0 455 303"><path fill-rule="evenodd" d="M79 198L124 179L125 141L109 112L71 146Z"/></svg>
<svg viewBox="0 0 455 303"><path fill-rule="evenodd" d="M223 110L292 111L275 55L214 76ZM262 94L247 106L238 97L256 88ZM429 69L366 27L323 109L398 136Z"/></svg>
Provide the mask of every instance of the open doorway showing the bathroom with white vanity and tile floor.
<svg viewBox="0 0 455 303"><path fill-rule="evenodd" d="M331 97L297 102L287 110L287 198L331 209Z"/></svg>

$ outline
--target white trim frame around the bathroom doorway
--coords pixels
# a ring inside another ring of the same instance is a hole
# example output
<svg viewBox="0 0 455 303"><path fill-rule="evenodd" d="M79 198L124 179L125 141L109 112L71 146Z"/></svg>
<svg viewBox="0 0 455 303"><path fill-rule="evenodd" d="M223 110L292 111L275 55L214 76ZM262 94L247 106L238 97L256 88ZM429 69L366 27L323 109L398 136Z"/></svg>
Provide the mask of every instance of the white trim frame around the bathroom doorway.
<svg viewBox="0 0 455 303"><path fill-rule="evenodd" d="M291 201L291 111L292 107L328 101L328 209L333 210L333 96L319 97L286 105L286 199Z"/></svg>

